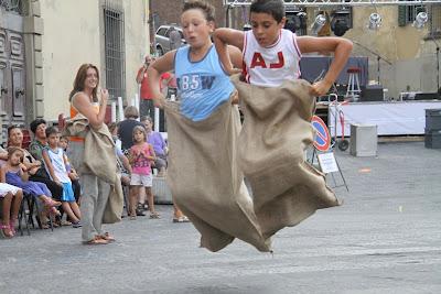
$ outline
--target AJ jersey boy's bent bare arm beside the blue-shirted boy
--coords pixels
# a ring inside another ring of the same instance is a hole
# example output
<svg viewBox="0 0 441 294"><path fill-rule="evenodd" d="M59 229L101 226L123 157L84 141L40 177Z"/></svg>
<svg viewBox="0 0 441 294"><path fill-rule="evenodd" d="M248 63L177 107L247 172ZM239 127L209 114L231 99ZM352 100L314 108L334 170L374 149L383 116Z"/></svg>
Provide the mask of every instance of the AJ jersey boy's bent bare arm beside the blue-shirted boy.
<svg viewBox="0 0 441 294"><path fill-rule="evenodd" d="M241 51L244 48L244 32L220 28L213 33L213 42L224 69L229 75L237 73L237 70L234 69L236 61L232 58L232 50L228 48L228 45L233 45Z"/></svg>

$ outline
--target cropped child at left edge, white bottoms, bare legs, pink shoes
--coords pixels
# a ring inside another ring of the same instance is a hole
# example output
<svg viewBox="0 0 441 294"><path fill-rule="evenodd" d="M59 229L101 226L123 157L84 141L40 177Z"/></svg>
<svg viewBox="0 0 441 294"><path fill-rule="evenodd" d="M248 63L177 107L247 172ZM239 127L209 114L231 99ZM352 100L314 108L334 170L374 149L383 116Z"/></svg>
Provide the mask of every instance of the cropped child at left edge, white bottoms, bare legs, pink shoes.
<svg viewBox="0 0 441 294"><path fill-rule="evenodd" d="M15 235L15 221L19 218L23 190L6 184L3 177L0 181L0 200L2 203L0 229L6 238L12 238Z"/></svg>

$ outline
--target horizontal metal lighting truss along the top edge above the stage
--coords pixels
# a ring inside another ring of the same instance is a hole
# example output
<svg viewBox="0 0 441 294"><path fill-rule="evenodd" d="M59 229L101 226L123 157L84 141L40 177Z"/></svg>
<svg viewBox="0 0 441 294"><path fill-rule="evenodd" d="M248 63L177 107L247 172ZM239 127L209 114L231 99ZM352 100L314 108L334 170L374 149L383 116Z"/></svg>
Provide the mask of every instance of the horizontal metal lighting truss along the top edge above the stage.
<svg viewBox="0 0 441 294"><path fill-rule="evenodd" d="M224 0L226 7L247 7L252 0ZM366 7L440 4L441 0L283 0L287 7Z"/></svg>

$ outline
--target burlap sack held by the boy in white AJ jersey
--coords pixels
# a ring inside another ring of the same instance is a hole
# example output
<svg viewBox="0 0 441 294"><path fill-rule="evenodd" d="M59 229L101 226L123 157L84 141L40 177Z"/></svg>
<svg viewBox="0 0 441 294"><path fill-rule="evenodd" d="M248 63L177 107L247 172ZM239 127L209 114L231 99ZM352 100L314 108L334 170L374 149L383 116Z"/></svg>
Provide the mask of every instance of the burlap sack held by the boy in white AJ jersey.
<svg viewBox="0 0 441 294"><path fill-rule="evenodd" d="M313 141L315 99L305 80L286 80L265 88L232 77L239 92L244 126L239 166L249 181L263 237L295 226L319 208L337 206L324 175L304 161Z"/></svg>

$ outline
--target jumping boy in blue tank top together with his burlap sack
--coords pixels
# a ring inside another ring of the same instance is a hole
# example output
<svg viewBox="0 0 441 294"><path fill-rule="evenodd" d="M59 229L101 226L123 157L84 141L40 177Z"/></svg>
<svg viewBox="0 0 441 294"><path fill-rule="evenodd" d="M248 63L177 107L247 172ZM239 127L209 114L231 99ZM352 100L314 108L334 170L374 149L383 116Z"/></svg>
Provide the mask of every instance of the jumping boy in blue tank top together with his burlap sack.
<svg viewBox="0 0 441 294"><path fill-rule="evenodd" d="M148 69L154 105L164 108L168 120L168 184L201 232L201 247L218 251L239 238L269 251L236 163L240 121L237 106L232 106L236 90L211 41L214 8L202 0L186 1L181 22L187 45ZM227 52L233 66L240 67L240 51L229 46ZM158 86L160 75L172 69L178 102L165 101Z"/></svg>

